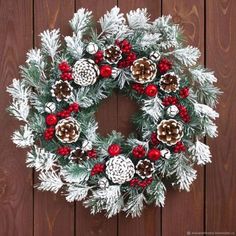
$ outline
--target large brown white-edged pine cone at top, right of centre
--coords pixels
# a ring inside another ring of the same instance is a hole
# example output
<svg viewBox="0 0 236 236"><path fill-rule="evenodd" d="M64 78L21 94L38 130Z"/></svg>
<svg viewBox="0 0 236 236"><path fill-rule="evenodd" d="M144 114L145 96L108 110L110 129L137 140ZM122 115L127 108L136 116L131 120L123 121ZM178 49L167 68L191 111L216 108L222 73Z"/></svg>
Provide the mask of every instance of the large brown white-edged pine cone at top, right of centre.
<svg viewBox="0 0 236 236"><path fill-rule="evenodd" d="M141 84L151 82L157 73L156 64L146 57L135 60L130 70L133 79Z"/></svg>

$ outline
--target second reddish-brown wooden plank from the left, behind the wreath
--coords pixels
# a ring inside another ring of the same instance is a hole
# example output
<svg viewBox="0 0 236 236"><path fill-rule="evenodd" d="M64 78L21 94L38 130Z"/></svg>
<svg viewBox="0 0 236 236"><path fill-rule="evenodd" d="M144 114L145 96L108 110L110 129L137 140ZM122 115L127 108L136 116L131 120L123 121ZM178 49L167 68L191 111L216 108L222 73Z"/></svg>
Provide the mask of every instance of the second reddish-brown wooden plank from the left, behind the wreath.
<svg viewBox="0 0 236 236"><path fill-rule="evenodd" d="M35 1L34 36L39 46L40 32L60 28L62 34L70 32L68 20L74 12L73 0ZM37 180L35 180L37 182ZM34 235L74 235L74 204L64 196L35 190Z"/></svg>

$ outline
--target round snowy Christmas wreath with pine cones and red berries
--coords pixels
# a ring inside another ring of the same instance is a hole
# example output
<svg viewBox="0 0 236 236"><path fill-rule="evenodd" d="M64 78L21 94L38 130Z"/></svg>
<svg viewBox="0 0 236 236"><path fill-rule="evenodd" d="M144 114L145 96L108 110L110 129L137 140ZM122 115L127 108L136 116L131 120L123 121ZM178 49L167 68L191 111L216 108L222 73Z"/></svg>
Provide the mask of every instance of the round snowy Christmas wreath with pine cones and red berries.
<svg viewBox="0 0 236 236"><path fill-rule="evenodd" d="M12 140L31 147L26 164L39 172L38 189L83 200L92 214L135 217L144 203L164 205L165 179L189 191L194 163L211 162L202 139L217 136L220 91L171 16L151 22L137 9L125 18L114 7L99 23L100 33L82 8L65 43L59 30L40 35L41 49L27 53L22 79L7 88L10 114L25 122ZM114 89L140 106L127 139L96 132L95 111Z"/></svg>

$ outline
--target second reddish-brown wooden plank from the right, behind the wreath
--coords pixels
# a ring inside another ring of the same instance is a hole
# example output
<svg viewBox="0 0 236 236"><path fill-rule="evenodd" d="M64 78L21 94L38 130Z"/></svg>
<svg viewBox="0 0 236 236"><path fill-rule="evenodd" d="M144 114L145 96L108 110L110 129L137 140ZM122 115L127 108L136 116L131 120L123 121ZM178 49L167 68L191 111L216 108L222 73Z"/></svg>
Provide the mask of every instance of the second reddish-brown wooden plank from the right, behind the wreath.
<svg viewBox="0 0 236 236"><path fill-rule="evenodd" d="M165 0L163 14L183 26L188 43L198 47L204 63L204 1ZM163 235L186 235L204 230L204 168L197 168L198 178L191 192L168 189L166 205L162 210ZM170 226L175 222L175 226Z"/></svg>

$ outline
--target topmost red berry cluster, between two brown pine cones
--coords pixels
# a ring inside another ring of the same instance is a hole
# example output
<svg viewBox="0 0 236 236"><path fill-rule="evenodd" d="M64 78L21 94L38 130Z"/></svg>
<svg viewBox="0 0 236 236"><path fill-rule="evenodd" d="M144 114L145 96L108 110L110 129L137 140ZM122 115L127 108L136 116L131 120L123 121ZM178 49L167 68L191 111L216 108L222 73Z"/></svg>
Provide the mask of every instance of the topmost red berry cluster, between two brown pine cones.
<svg viewBox="0 0 236 236"><path fill-rule="evenodd" d="M137 59L136 54L132 52L131 43L127 39L124 39L122 41L116 40L115 44L122 51L122 59L118 62L118 68L125 68L131 66L133 62Z"/></svg>

